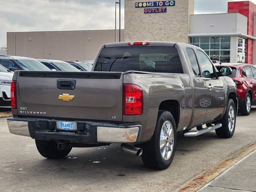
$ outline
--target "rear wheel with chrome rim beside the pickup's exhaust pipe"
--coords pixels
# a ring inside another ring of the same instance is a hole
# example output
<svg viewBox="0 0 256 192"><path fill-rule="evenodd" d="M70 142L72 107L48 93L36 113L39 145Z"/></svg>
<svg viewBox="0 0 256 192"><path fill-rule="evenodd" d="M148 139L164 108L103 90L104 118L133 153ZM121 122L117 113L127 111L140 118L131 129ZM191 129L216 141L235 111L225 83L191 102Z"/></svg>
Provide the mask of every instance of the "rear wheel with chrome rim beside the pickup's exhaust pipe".
<svg viewBox="0 0 256 192"><path fill-rule="evenodd" d="M165 132L164 124L167 127ZM160 148L160 136L162 136L162 148ZM164 170L170 166L176 150L176 124L169 111L160 110L158 112L156 128L152 139L141 144L140 147L143 149L141 158L146 167ZM161 151L164 157L162 157ZM165 156L166 159L164 159Z"/></svg>

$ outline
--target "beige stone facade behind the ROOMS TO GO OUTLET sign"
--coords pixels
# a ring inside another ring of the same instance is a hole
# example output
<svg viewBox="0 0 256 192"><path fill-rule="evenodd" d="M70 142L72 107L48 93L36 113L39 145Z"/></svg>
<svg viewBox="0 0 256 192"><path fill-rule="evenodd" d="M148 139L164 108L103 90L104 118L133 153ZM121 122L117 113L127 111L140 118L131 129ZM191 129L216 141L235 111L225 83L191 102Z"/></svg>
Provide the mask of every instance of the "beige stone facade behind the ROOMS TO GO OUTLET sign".
<svg viewBox="0 0 256 192"><path fill-rule="evenodd" d="M144 8L135 8L137 2L152 2L152 0L125 0L125 41L189 43L190 15L194 14L194 0L175 0L175 6L166 6L166 13L150 14L145 14Z"/></svg>

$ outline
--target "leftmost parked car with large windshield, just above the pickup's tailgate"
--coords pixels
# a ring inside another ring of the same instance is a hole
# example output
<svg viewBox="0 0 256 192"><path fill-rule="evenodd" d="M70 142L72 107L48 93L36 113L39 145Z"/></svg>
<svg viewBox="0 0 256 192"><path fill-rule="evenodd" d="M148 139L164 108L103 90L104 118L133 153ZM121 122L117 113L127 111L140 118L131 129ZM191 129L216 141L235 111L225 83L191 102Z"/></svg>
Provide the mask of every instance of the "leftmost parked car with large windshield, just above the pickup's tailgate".
<svg viewBox="0 0 256 192"><path fill-rule="evenodd" d="M0 64L11 71L49 71L49 69L42 63L30 57L1 55Z"/></svg>

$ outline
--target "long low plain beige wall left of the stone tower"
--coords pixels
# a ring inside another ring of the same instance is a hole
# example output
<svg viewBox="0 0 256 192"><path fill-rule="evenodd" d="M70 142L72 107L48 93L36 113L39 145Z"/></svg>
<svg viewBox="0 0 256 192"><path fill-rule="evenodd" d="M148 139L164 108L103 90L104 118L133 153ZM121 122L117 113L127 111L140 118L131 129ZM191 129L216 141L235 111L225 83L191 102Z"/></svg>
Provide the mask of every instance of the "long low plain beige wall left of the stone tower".
<svg viewBox="0 0 256 192"><path fill-rule="evenodd" d="M116 31L117 40L119 32ZM115 42L115 30L8 32L7 54L39 59L94 60L103 44ZM124 41L124 30L121 30Z"/></svg>

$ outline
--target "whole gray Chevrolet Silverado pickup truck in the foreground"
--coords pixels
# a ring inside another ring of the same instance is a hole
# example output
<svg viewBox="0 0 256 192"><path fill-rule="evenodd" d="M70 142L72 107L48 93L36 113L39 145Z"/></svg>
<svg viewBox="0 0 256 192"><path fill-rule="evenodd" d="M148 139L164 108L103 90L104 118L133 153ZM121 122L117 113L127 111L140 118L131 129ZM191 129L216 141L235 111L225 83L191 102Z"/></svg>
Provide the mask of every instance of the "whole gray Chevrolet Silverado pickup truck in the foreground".
<svg viewBox="0 0 256 192"><path fill-rule="evenodd" d="M46 158L120 143L162 170L174 158L177 132L232 137L238 102L230 74L190 44L105 44L92 72L15 71L8 127L34 138Z"/></svg>

